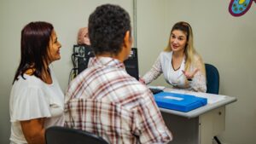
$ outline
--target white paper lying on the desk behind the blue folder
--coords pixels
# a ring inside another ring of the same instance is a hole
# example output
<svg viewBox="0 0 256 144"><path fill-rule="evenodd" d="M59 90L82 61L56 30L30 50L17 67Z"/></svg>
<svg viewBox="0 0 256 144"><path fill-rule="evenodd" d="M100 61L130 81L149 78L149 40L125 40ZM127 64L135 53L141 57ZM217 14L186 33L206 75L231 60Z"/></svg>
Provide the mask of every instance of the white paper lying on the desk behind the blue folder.
<svg viewBox="0 0 256 144"><path fill-rule="evenodd" d="M172 89L172 91L170 91L170 92L178 93L178 94L186 94L186 95L195 95L198 97L207 98L208 104L213 104L218 101L223 101L226 98L225 95L213 95L213 94L208 94L208 93L185 91L185 90L181 90L181 89Z"/></svg>

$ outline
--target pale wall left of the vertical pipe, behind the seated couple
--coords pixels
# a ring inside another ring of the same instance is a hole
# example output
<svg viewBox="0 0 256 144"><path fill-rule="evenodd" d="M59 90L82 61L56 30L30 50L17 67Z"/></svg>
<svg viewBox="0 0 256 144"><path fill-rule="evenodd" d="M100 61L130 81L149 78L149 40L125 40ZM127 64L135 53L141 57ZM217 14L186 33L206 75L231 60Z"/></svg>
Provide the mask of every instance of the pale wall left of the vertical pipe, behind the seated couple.
<svg viewBox="0 0 256 144"><path fill-rule="evenodd" d="M89 15L103 3L119 4L132 16L129 0L1 0L0 1L0 143L9 143L9 92L20 60L20 32L30 21L45 20L55 26L62 44L61 60L53 63L63 91L72 69L71 55L77 32Z"/></svg>

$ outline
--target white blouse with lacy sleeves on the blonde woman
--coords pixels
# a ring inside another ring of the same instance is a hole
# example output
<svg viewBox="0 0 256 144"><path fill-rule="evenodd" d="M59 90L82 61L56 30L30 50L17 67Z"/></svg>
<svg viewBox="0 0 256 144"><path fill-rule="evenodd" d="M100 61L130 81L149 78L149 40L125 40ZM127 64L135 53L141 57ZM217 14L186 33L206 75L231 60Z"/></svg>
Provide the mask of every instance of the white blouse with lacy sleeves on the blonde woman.
<svg viewBox="0 0 256 144"><path fill-rule="evenodd" d="M195 56L195 64L189 67L189 71L193 72L195 68L201 68L202 65L204 65L203 62ZM180 68L175 71L172 67L172 51L164 51L160 53L151 70L143 76L143 81L145 84L149 84L163 73L166 82L175 88L206 92L207 84L205 74L203 74L202 71L198 71L195 73L193 81L189 82L182 72L184 69L185 57L183 58Z"/></svg>

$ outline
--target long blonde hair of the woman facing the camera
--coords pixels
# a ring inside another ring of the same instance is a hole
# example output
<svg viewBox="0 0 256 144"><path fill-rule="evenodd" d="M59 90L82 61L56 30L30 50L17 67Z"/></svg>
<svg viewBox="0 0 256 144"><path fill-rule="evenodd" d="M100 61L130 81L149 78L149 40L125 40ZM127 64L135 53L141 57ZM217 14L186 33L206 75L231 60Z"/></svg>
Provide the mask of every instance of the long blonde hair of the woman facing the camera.
<svg viewBox="0 0 256 144"><path fill-rule="evenodd" d="M172 31L170 33L168 45L167 45L167 47L164 51L172 51L170 39L172 37L171 35L172 35L172 32L174 30L182 31L187 36L187 44L185 45L184 53L185 53L185 56L186 56L185 71L188 71L189 67L194 62L194 56L198 55L196 50L195 50L195 47L194 47L192 28L189 25L189 23L184 22L184 21L177 22L174 26L172 26Z"/></svg>

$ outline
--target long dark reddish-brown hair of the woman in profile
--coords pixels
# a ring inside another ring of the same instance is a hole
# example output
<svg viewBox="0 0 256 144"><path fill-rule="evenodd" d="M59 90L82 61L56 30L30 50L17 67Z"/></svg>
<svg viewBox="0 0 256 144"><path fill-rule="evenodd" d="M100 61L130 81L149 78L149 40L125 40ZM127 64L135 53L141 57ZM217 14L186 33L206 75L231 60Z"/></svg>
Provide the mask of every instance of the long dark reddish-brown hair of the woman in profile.
<svg viewBox="0 0 256 144"><path fill-rule="evenodd" d="M43 72L49 72L45 62L49 60L49 40L54 27L48 22L36 21L27 24L21 31L20 65L15 72L15 80L24 73L33 69L32 75L43 80ZM25 78L24 78L25 79Z"/></svg>

